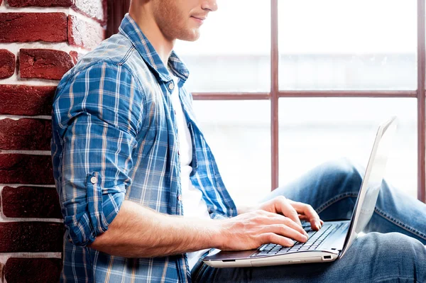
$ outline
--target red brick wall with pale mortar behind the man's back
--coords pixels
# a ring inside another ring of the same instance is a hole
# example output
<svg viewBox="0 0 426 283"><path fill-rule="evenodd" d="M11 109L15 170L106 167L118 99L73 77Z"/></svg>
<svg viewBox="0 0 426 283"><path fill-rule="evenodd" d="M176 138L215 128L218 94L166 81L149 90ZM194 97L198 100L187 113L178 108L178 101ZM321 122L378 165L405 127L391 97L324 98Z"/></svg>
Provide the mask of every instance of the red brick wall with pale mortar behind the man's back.
<svg viewBox="0 0 426 283"><path fill-rule="evenodd" d="M58 282L55 87L104 39L105 0L0 0L0 282Z"/></svg>

